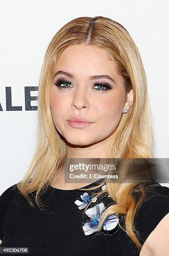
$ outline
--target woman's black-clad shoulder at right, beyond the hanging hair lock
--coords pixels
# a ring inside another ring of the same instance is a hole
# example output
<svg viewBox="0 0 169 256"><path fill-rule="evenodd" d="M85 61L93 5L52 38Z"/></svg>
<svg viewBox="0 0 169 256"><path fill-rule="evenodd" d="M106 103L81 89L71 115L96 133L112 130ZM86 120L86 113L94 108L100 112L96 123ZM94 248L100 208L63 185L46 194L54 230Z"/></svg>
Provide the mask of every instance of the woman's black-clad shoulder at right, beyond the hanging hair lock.
<svg viewBox="0 0 169 256"><path fill-rule="evenodd" d="M146 197L138 207L136 214L136 226L142 244L169 213L169 187L162 186L151 179L145 193Z"/></svg>

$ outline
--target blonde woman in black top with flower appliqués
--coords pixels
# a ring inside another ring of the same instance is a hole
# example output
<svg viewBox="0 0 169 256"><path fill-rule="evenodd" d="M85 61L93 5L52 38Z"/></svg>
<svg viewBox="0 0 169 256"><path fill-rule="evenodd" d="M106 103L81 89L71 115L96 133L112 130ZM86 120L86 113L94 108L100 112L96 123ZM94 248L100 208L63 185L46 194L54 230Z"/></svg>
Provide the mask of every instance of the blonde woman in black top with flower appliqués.
<svg viewBox="0 0 169 256"><path fill-rule="evenodd" d="M29 247L31 256L168 255L169 188L153 179L65 182L67 159L153 157L146 74L122 25L80 17L56 33L40 74L38 124L24 179L0 197L0 247Z"/></svg>

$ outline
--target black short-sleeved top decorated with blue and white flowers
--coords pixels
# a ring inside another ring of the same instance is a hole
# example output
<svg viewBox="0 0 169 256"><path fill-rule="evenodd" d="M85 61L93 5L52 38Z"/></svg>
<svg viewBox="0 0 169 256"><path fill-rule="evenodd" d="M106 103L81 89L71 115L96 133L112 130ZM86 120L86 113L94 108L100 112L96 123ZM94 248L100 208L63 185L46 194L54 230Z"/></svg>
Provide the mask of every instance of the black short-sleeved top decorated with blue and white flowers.
<svg viewBox="0 0 169 256"><path fill-rule="evenodd" d="M153 192L147 192L146 200L139 207L135 218L142 245L169 212L169 188L161 186L153 179L151 182L157 184L157 187L154 187ZM83 188L91 187L93 184ZM92 202L89 208L92 208L93 216L89 217L85 213L82 214L84 210L80 210L78 208L80 203L78 206L75 201L85 202L85 199L89 201L92 198L91 191L86 191L89 195L87 198L80 197L85 191L62 190L49 186L41 197L42 202L47 206L43 207L44 210L40 210L35 201L35 208L31 207L15 185L6 189L0 196L0 239L2 240L0 247L29 247L30 256L139 256L139 251L131 238L119 225L116 225L117 215L113 215L109 222L106 222L102 232L94 232L99 221L95 218L98 215L94 215L94 209L97 209L99 214L99 206L100 209L105 210L104 207L107 208L112 204L113 200L108 194ZM35 200L35 192L31 196ZM113 223L114 228L108 230L109 223ZM124 227L120 215L119 223ZM90 235L84 233L83 225L92 232Z"/></svg>

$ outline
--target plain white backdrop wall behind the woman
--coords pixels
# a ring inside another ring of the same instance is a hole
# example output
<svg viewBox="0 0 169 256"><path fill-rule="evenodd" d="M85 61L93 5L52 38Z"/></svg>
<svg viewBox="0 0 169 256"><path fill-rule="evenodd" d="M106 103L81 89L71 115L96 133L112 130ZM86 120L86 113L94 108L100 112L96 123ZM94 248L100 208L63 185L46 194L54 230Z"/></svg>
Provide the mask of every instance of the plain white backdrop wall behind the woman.
<svg viewBox="0 0 169 256"><path fill-rule="evenodd" d="M134 39L147 74L156 157L169 158L168 10L167 0L1 0L0 195L22 179L35 150L37 111L25 111L24 87L38 86L50 40L68 21L81 16L111 18ZM22 106L22 111L6 111L5 87L11 87L12 106Z"/></svg>

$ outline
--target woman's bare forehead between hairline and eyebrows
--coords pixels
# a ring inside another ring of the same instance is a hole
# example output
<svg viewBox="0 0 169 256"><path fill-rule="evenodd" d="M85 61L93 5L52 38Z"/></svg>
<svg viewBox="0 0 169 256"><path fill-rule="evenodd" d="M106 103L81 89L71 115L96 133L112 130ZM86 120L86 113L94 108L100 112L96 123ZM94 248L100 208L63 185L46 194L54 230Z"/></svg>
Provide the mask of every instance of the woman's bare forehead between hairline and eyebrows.
<svg viewBox="0 0 169 256"><path fill-rule="evenodd" d="M70 46L62 52L55 66L55 74L60 70L72 74L72 77L69 76L71 78L79 74L88 78L117 75L116 66L106 51L83 45Z"/></svg>

